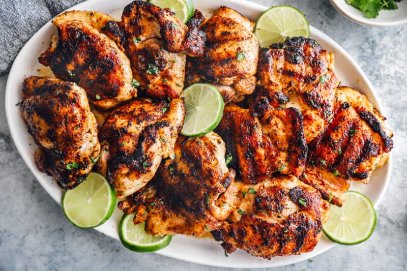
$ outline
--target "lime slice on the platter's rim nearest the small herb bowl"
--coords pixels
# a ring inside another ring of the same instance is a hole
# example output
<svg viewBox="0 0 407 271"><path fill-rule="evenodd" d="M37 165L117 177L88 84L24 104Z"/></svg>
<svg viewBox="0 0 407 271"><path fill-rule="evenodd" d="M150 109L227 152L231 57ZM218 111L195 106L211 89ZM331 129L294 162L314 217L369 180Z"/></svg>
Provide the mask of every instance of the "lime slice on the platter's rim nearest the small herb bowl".
<svg viewBox="0 0 407 271"><path fill-rule="evenodd" d="M261 13L254 26L260 47L284 42L287 37L309 38L309 24L304 14L291 6L275 6Z"/></svg>

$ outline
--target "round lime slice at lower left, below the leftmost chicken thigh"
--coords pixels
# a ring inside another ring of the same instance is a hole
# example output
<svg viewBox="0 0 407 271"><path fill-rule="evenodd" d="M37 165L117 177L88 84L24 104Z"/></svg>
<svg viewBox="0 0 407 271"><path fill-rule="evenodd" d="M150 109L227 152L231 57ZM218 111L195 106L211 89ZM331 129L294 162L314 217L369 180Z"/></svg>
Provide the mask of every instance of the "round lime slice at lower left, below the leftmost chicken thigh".
<svg viewBox="0 0 407 271"><path fill-rule="evenodd" d="M67 219L85 229L103 224L113 214L115 205L114 189L96 172L91 172L79 186L65 191L62 198Z"/></svg>

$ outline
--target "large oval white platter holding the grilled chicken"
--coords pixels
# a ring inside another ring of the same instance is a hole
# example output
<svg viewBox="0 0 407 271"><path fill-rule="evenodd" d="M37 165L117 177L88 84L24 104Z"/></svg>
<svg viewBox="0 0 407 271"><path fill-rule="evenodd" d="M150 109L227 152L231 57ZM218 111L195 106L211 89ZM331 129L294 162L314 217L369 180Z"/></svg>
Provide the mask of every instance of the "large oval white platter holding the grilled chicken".
<svg viewBox="0 0 407 271"><path fill-rule="evenodd" d="M120 18L121 10L129 2L129 0L116 0L109 2L103 0L89 0L72 7L71 10L97 10L110 13L115 18ZM242 0L206 0L205 2L195 2L195 8L201 10L204 14L209 14L220 5L234 8L240 11L243 15L248 16L251 20L255 20L261 12L267 9L264 6ZM350 55L321 31L318 31L314 27L310 27L310 30L311 38L316 39L328 51L334 52L336 72L339 80L342 81L342 84L360 89L360 91L367 95L375 107L380 110L378 100L373 93L370 82ZM34 152L37 146L32 137L27 133L27 129L21 118L20 107L15 106L21 97L21 84L25 77L30 75L51 75L48 68L45 68L38 63L37 57L46 49L49 43L49 38L53 32L54 27L51 22L46 23L21 49L9 74L6 86L5 103L7 121L11 135L21 157L48 194L56 202L61 204L63 191L56 185L50 176L47 176L37 169L34 163ZM374 172L372 182L368 186L358 185L353 187L353 190L358 190L366 194L375 206L379 204L387 189L390 178L390 161L391 159L389 159L389 163L383 168ZM117 227L120 218L121 212L119 209L116 209L113 216L105 224L97 227L96 230L112 238L119 239ZM332 248L334 245L333 242L323 236L312 252L298 256L276 257L272 260L264 260L253 257L248 253L239 250L230 254L228 257L225 257L221 246L211 238L194 238L177 235L173 236L172 242L167 248L158 251L157 253L200 264L237 268L256 268L273 267L299 262L321 254Z"/></svg>

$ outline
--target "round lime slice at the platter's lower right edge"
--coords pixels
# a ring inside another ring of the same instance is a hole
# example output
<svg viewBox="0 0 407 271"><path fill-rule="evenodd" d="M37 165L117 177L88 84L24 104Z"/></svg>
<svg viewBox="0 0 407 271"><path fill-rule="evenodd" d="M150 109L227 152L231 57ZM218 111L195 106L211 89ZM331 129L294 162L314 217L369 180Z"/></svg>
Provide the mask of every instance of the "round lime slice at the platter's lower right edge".
<svg viewBox="0 0 407 271"><path fill-rule="evenodd" d="M355 191L347 191L345 195L342 207L331 204L329 219L322 229L336 243L355 245L372 234L376 226L376 212L365 195Z"/></svg>

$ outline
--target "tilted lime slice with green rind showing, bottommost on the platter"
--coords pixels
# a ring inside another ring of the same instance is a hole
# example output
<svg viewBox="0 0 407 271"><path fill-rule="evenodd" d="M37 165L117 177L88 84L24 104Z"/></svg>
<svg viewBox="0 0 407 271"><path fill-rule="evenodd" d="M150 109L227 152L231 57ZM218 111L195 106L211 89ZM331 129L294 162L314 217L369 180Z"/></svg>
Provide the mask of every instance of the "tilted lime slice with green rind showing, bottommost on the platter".
<svg viewBox="0 0 407 271"><path fill-rule="evenodd" d="M171 242L172 235L155 236L144 230L144 222L133 223L134 214L124 214L120 220L119 237L123 246L135 252L153 252L165 248Z"/></svg>

